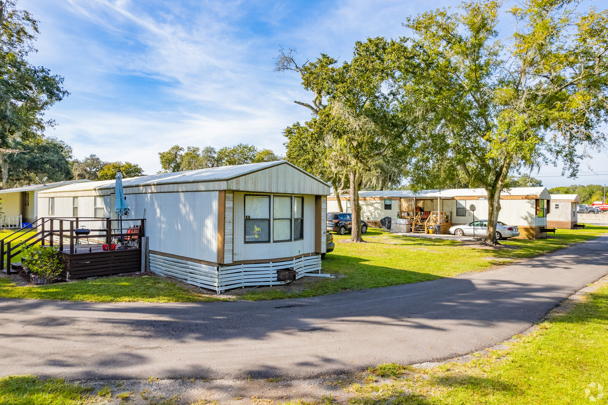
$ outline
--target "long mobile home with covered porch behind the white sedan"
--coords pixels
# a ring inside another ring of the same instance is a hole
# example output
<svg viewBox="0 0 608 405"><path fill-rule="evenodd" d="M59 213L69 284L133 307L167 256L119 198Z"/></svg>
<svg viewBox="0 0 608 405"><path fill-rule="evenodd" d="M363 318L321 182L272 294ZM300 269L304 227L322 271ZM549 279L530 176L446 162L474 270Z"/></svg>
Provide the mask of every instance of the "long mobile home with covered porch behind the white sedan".
<svg viewBox="0 0 608 405"><path fill-rule="evenodd" d="M500 196L499 221L519 227L520 238L544 238L547 227L548 201L545 187L514 187ZM342 206L350 212L350 197L340 196ZM488 219L488 198L484 189L364 191L359 192L361 217L370 226L380 227L386 216L407 218L412 212L438 213L441 233L453 224L468 224ZM471 211L471 205L475 211ZM334 196L327 198L328 212L337 211Z"/></svg>

